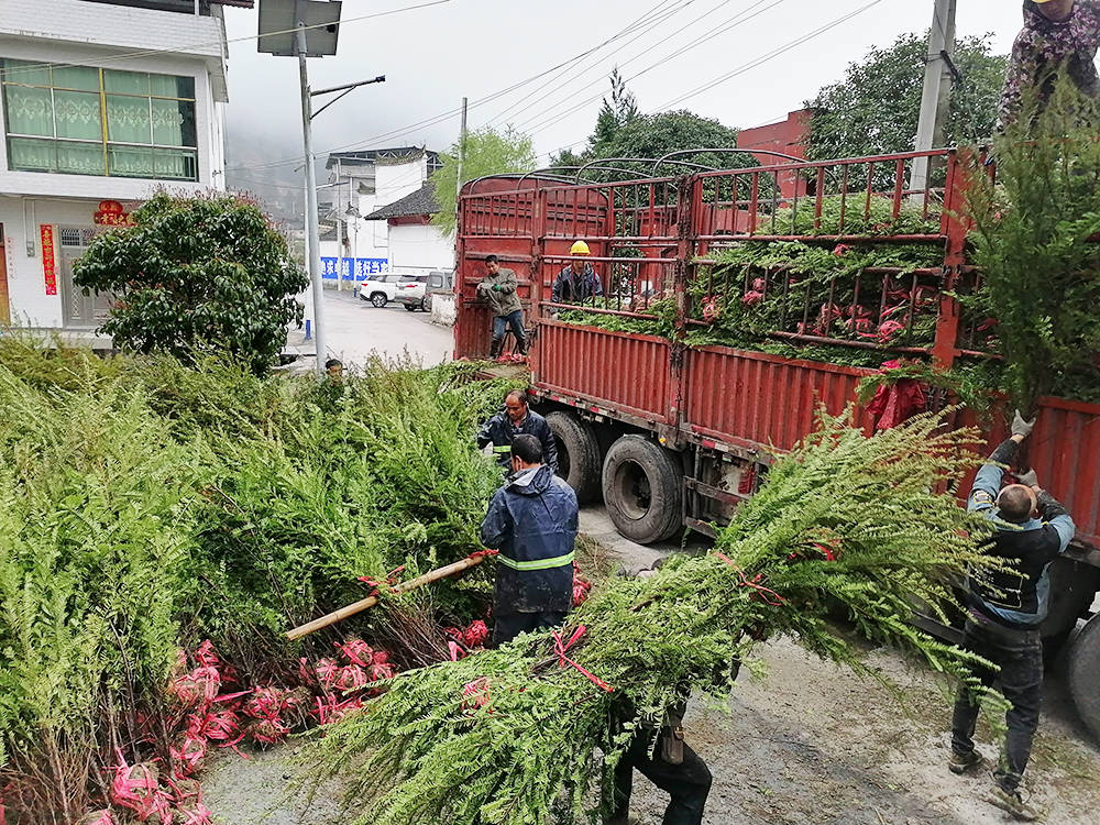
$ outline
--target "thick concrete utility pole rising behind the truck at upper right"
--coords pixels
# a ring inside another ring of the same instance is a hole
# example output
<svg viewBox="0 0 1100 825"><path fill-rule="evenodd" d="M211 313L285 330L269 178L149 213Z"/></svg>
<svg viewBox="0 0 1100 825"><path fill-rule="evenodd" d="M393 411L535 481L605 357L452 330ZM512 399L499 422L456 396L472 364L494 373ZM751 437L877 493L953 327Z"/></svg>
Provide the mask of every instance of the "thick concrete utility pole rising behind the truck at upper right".
<svg viewBox="0 0 1100 825"><path fill-rule="evenodd" d="M955 8L957 0L935 0L932 33L928 36L928 56L924 68L924 91L921 96L921 118L916 127L917 152L944 145L945 122L952 100L952 79L955 74ZM928 186L930 158L913 161L909 188L923 197Z"/></svg>

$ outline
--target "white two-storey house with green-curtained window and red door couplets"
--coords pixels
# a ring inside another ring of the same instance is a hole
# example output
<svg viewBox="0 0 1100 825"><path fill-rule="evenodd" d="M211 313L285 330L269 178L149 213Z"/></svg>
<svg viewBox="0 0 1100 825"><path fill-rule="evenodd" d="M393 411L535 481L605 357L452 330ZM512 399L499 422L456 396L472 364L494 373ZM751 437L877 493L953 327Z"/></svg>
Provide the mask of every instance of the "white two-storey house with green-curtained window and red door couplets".
<svg viewBox="0 0 1100 825"><path fill-rule="evenodd" d="M0 2L0 322L88 336L73 262L158 188L224 189L222 6Z"/></svg>

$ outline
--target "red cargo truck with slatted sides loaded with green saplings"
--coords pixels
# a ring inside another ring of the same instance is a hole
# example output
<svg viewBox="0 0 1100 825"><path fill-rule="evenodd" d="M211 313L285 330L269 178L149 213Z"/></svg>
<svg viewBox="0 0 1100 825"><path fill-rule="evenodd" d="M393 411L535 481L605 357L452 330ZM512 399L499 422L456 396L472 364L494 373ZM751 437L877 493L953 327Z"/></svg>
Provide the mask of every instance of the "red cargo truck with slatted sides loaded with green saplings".
<svg viewBox="0 0 1100 825"><path fill-rule="evenodd" d="M937 175L911 190L922 156ZM713 535L776 452L811 429L815 407L842 411L881 362L996 362L994 322L968 300L981 276L960 216L976 174L987 174L978 160L932 152L612 183L471 182L454 354L488 353L491 316L475 286L495 254L519 278L531 392L579 498L602 496L618 530L642 543L685 527ZM810 194L783 197L791 175ZM578 240L590 256L570 255ZM576 260L592 265L604 296L554 302L554 278ZM858 415L870 430L871 415ZM997 443L1001 417L986 418ZM1072 637L1070 688L1100 736L1100 405L1043 398L1028 461L1078 526L1053 569L1043 632L1052 652Z"/></svg>

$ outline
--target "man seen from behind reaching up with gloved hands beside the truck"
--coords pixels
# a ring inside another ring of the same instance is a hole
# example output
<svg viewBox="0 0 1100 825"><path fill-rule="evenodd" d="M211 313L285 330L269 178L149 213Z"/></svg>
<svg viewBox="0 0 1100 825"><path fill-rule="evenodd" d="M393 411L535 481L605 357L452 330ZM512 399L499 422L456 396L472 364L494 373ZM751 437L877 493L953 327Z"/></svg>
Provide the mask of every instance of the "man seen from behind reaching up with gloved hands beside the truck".
<svg viewBox="0 0 1100 825"><path fill-rule="evenodd" d="M1021 798L1019 787L1042 704L1040 625L1046 618L1048 569L1069 546L1076 529L1066 508L1038 486L1034 470L1023 473L1019 484L1001 488L1004 471L1000 465L1012 463L1034 426L1034 420L1025 421L1016 410L1011 438L993 451L991 463L978 471L970 491L969 509L985 514L997 527L993 538L988 539L987 552L1009 566L968 579L968 613L963 630L963 647L1000 669L978 668L975 676L983 688L999 680L1001 693L1012 703L1004 716L1008 735L1000 765L993 771L997 785L989 801L1023 822L1037 817ZM953 773L977 770L983 762L974 747L977 700L974 691L960 688L952 719L948 767Z"/></svg>

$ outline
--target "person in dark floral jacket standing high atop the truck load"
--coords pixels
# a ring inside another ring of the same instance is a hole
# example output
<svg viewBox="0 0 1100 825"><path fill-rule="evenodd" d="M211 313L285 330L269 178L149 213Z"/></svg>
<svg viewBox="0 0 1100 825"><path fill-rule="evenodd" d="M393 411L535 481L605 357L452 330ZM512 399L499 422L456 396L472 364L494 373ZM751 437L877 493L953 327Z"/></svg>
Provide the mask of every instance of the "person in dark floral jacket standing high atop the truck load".
<svg viewBox="0 0 1100 825"><path fill-rule="evenodd" d="M1012 44L998 122L1003 128L1020 114L1025 90L1049 97L1054 75L1064 67L1088 97L1100 96L1093 61L1100 45L1100 0L1025 0L1024 25Z"/></svg>

